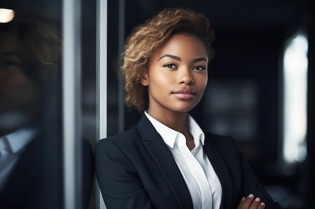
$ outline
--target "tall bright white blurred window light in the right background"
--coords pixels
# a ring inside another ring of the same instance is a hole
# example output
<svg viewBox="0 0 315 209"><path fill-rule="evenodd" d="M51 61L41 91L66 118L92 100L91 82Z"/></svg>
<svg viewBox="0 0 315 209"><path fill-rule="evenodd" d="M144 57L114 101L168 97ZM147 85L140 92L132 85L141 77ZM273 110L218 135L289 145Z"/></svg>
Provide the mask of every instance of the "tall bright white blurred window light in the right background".
<svg viewBox="0 0 315 209"><path fill-rule="evenodd" d="M304 35L290 40L284 53L283 156L285 162L301 162L306 152L307 48Z"/></svg>

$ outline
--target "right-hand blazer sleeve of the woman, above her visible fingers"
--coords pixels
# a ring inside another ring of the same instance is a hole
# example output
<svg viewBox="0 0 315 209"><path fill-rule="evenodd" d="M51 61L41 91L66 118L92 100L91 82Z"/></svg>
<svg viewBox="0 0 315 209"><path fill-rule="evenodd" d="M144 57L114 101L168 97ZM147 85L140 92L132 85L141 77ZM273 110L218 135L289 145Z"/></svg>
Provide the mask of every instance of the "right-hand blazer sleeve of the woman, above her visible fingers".
<svg viewBox="0 0 315 209"><path fill-rule="evenodd" d="M253 193L255 197L260 197L261 200L266 204L265 209L281 209L280 205L277 202L274 202L265 187L258 181L257 176L254 175L252 168L248 164L248 161L245 159L237 143L232 138L231 141L240 159L244 184L243 195L247 196L250 193Z"/></svg>

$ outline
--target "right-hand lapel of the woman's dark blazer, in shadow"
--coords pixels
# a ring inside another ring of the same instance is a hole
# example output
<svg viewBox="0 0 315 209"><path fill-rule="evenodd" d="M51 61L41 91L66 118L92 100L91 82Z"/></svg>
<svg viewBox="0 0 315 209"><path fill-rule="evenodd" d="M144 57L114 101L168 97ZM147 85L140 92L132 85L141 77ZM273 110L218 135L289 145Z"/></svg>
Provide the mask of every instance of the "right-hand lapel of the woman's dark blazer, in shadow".
<svg viewBox="0 0 315 209"><path fill-rule="evenodd" d="M206 136L207 137L207 136ZM230 208L232 204L232 180L221 155L214 142L207 137L204 144L204 151L207 154L215 173L217 174L222 186L222 200L220 209Z"/></svg>

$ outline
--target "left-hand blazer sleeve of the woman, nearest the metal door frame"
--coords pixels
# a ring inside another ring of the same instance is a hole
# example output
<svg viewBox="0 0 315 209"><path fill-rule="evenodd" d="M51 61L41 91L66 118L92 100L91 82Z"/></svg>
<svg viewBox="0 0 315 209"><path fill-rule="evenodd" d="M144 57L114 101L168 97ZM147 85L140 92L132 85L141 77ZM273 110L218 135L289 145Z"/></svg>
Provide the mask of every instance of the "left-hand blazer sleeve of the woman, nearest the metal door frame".
<svg viewBox="0 0 315 209"><path fill-rule="evenodd" d="M108 209L153 209L135 167L115 141L98 141L94 155L96 177Z"/></svg>

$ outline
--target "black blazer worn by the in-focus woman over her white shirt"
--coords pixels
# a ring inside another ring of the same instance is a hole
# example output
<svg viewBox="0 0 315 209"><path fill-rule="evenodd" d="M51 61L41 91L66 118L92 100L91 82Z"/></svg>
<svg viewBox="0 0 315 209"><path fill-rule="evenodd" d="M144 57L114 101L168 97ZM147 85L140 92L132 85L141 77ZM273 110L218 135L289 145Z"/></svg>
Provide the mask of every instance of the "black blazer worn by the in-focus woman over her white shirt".
<svg viewBox="0 0 315 209"><path fill-rule="evenodd" d="M206 133L203 148L222 185L221 209L237 208L250 193L261 197L266 209L280 208L233 139ZM171 151L144 115L136 127L98 141L95 170L108 209L193 208Z"/></svg>

